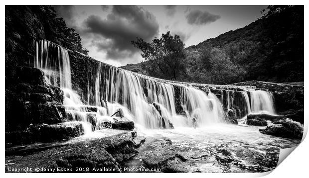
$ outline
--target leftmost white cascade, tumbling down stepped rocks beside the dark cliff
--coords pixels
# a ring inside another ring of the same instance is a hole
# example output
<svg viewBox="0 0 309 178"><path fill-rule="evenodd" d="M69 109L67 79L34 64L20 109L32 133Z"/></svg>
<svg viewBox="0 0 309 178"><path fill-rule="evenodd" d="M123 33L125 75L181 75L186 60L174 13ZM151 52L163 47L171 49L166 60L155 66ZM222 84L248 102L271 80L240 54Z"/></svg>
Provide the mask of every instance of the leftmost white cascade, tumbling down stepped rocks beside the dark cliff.
<svg viewBox="0 0 309 178"><path fill-rule="evenodd" d="M71 120L82 121L85 133L91 132L89 115L80 96L72 90L70 58L66 49L47 40L35 44L34 67L41 69L48 84L58 86L64 94L63 105Z"/></svg>

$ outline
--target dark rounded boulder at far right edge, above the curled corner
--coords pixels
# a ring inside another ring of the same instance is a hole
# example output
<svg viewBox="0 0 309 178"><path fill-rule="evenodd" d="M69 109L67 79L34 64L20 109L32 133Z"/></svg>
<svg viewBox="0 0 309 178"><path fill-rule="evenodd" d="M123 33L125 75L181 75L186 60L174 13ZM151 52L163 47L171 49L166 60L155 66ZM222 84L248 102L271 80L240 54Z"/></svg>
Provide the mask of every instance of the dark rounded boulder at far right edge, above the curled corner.
<svg viewBox="0 0 309 178"><path fill-rule="evenodd" d="M263 134L277 137L301 139L303 137L304 126L292 119L281 119L279 124L273 124L259 131Z"/></svg>

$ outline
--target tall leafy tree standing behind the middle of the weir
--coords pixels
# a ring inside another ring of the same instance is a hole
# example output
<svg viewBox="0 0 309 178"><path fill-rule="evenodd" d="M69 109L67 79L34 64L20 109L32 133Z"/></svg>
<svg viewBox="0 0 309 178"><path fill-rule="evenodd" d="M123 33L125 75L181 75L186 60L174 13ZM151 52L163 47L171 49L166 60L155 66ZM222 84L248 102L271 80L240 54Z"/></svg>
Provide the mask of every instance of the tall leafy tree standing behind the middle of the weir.
<svg viewBox="0 0 309 178"><path fill-rule="evenodd" d="M154 76L168 80L179 80L185 75L185 44L179 35L170 35L169 31L161 38L154 38L152 43L137 38L132 44L142 50L142 57L149 61L148 72Z"/></svg>

